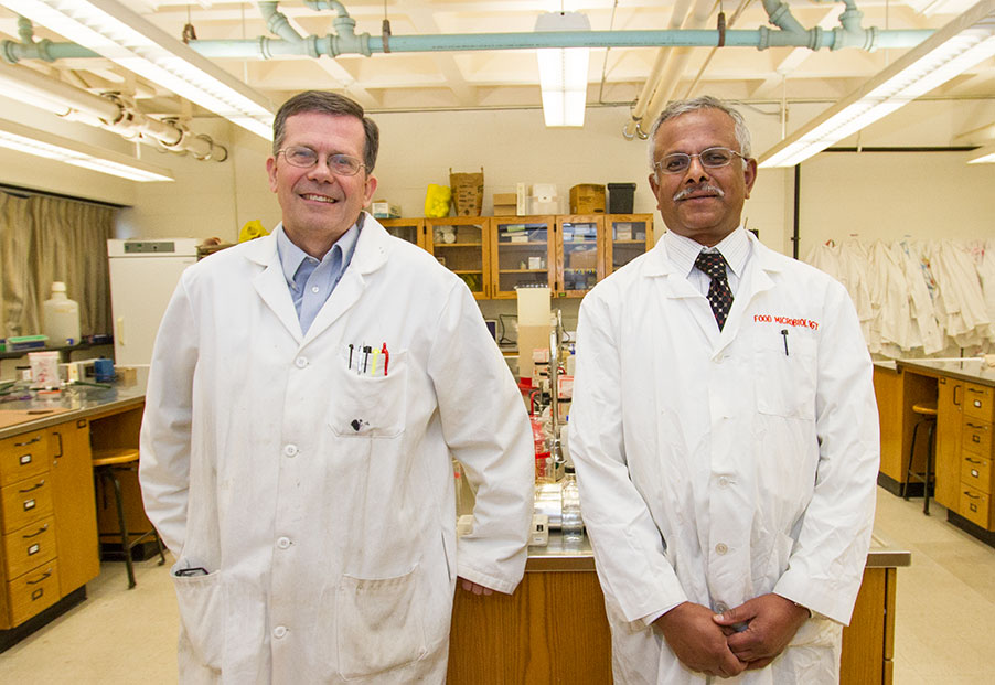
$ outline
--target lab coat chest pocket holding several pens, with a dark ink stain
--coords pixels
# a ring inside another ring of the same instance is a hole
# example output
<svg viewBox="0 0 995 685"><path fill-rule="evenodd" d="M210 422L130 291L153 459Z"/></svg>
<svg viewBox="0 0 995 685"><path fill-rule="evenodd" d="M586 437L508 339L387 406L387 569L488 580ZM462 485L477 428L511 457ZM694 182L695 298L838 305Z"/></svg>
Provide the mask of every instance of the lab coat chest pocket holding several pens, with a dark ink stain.
<svg viewBox="0 0 995 685"><path fill-rule="evenodd" d="M341 360L329 388L328 415L329 427L340 438L396 438L404 432L407 392L404 351L390 353L386 375L379 364L377 372L376 375L356 373L345 357Z"/></svg>

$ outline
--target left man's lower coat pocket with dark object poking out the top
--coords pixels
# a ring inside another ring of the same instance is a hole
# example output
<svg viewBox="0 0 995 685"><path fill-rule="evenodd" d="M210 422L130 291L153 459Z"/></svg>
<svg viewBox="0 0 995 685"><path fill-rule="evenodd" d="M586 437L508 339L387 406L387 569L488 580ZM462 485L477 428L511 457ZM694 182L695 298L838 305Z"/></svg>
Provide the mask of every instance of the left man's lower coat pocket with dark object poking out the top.
<svg viewBox="0 0 995 685"><path fill-rule="evenodd" d="M225 649L225 592L221 574L176 576L188 567L180 561L171 571L180 608L180 624L200 665L221 670Z"/></svg>

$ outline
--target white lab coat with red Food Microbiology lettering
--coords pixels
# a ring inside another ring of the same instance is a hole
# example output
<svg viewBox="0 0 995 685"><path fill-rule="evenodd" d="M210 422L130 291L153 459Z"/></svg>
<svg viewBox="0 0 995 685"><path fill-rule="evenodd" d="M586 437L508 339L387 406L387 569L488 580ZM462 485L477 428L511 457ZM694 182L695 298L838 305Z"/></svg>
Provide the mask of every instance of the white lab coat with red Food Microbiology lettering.
<svg viewBox="0 0 995 685"><path fill-rule="evenodd" d="M618 684L706 682L642 619L771 591L816 618L734 682L837 677L874 520L870 358L843 286L749 239L721 333L664 240L581 303L570 451Z"/></svg>

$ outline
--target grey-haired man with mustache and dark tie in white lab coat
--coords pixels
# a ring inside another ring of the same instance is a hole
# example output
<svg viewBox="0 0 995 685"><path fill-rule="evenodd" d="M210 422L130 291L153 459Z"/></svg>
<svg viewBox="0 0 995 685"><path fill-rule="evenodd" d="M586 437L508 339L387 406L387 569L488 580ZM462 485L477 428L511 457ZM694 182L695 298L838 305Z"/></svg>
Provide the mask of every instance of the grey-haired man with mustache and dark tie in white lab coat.
<svg viewBox="0 0 995 685"><path fill-rule="evenodd" d="M835 683L879 453L854 307L740 225L737 111L675 103L650 152L667 233L585 298L570 410L616 683Z"/></svg>

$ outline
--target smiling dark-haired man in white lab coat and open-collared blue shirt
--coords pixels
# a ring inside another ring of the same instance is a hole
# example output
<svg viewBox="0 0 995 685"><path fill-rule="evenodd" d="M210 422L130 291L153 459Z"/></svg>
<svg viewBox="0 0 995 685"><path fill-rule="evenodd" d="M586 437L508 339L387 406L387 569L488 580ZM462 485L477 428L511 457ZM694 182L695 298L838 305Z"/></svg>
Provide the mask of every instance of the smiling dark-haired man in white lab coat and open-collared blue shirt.
<svg viewBox="0 0 995 685"><path fill-rule="evenodd" d="M466 285L363 206L377 128L349 98L281 107L272 235L190 267L141 435L178 561L183 682L442 683L457 579L522 578L527 417ZM477 489L457 540L451 457Z"/></svg>

